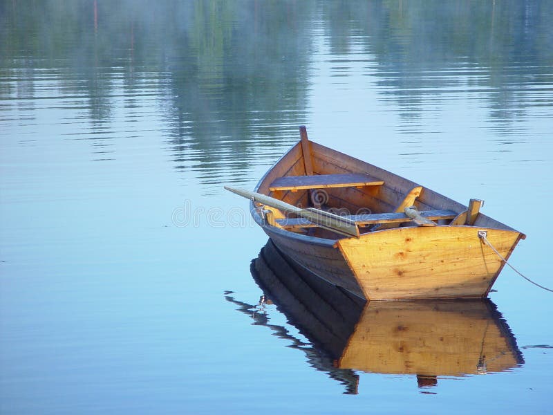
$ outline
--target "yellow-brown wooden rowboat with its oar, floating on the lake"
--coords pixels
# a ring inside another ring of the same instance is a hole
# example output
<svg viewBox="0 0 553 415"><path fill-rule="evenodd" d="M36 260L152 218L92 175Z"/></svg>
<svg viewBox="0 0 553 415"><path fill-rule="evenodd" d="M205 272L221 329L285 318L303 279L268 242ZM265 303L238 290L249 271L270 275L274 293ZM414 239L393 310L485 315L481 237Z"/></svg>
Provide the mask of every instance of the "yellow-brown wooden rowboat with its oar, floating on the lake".
<svg viewBox="0 0 553 415"><path fill-rule="evenodd" d="M487 297L523 233L300 133L254 192L227 187L281 252L366 299Z"/></svg>

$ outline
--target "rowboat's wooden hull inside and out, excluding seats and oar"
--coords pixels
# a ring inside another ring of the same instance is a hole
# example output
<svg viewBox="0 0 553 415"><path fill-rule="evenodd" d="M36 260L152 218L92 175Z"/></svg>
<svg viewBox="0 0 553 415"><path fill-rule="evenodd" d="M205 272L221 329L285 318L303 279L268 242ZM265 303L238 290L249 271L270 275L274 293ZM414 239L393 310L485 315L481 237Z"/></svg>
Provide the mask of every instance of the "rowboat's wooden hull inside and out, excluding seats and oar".
<svg viewBox="0 0 553 415"><path fill-rule="evenodd" d="M523 233L418 183L315 142L310 141L308 146L312 174L366 174L383 183L313 191L323 196L320 202L326 208L339 208L345 214L401 212L397 206L418 187L413 202L418 210L449 210L457 215L455 220L466 218L459 221L465 225L451 223L451 219L438 221L435 226L384 224L380 230L362 228L356 238L321 228L285 228L278 223L285 216L274 209L271 211L274 218L269 223L260 214L259 206L250 203L254 220L286 257L359 297L369 300L487 297L505 263L478 237L478 232L487 232L487 241L505 259L518 241L525 238ZM306 152L302 151L300 143L292 147L261 178L255 192L295 207L310 205L314 196L310 190L277 190L272 184L278 183L279 178L307 174Z"/></svg>

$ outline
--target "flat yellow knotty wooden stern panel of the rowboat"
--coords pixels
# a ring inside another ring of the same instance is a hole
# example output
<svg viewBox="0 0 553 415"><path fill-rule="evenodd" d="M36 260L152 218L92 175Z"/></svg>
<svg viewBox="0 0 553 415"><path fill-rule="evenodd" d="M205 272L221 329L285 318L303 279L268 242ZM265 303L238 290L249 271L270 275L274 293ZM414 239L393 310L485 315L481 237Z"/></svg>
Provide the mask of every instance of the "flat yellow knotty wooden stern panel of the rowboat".
<svg viewBox="0 0 553 415"><path fill-rule="evenodd" d="M487 229L505 257L519 232ZM398 228L338 242L367 299L485 297L503 268L478 228Z"/></svg>

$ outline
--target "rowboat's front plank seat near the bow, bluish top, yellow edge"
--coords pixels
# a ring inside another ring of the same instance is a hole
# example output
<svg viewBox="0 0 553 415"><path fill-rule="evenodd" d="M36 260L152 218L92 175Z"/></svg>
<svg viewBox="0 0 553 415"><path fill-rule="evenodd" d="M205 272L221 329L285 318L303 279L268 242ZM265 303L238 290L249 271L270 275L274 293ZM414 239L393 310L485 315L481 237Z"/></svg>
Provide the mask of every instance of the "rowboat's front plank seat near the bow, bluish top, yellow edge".
<svg viewBox="0 0 553 415"><path fill-rule="evenodd" d="M368 174L315 174L313 176L284 176L273 181L269 190L325 189L328 187L362 187L383 185L384 181Z"/></svg>

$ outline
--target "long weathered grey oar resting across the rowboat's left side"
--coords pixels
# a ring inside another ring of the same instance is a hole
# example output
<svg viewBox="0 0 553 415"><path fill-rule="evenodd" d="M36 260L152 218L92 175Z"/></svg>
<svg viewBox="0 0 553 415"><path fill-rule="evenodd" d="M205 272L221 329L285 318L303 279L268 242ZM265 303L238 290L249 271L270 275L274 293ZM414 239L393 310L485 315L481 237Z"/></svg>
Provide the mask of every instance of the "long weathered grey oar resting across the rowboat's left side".
<svg viewBox="0 0 553 415"><path fill-rule="evenodd" d="M301 209L297 208L290 203L283 202L279 199L274 199L274 197L266 196L265 194L250 192L249 190L236 189L234 187L225 186L225 189L229 192L236 193L239 196L243 196L246 199L250 199L254 202L262 203L263 205L268 205L271 208L277 208L281 210L284 214L297 214L302 218L308 219L315 225L320 226L321 228L332 230L339 234L346 235L346 237L356 237L359 238L359 228L355 221L346 219L343 216L337 214L332 214L325 212L324 210L308 208Z"/></svg>

